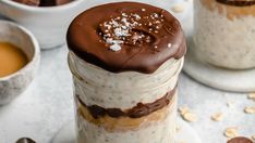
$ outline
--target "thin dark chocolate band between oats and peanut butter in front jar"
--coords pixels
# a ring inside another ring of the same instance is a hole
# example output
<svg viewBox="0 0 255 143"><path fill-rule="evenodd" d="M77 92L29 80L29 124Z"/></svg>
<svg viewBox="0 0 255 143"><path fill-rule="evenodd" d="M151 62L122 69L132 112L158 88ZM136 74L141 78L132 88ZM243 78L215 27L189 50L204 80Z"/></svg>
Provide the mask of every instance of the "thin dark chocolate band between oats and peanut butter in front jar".
<svg viewBox="0 0 255 143"><path fill-rule="evenodd" d="M89 110L89 113L94 118L104 117L106 115L113 118L118 117L139 118L167 106L170 103L173 94L175 93L175 90L177 88L174 88L172 91L169 91L165 96L155 101L154 103L145 103L145 104L138 103L133 108L126 110L122 110L120 108L104 108L98 105L87 106L78 95L76 96L78 102Z"/></svg>

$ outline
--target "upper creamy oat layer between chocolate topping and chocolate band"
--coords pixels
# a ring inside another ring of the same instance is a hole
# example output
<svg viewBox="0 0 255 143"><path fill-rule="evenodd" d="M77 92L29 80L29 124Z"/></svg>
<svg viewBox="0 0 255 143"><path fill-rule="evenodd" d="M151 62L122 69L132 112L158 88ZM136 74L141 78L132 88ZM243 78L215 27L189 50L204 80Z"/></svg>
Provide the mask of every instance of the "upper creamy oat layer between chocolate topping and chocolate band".
<svg viewBox="0 0 255 143"><path fill-rule="evenodd" d="M154 74L113 74L84 62L73 53L69 55L69 63L76 75L75 94L80 95L86 105L127 109L139 102L153 103L173 90L183 60L169 60Z"/></svg>

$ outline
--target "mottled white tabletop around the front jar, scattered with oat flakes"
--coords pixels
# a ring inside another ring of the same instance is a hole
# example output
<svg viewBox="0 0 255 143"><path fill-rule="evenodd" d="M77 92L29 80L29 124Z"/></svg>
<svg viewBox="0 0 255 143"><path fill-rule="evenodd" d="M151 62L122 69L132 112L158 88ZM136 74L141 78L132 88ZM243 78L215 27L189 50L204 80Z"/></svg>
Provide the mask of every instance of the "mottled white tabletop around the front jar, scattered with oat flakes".
<svg viewBox="0 0 255 143"><path fill-rule="evenodd" d="M50 143L58 130L74 118L66 52L66 47L42 51L35 80L11 104L0 107L0 143L14 143L22 136ZM243 113L244 107L255 106L246 94L205 87L183 73L179 91L179 105L187 105L198 116L198 120L190 125L204 143L224 143L227 127L239 127L241 135L255 134L255 115ZM233 102L233 107L227 107L228 101ZM210 120L216 112L224 114L222 121Z"/></svg>

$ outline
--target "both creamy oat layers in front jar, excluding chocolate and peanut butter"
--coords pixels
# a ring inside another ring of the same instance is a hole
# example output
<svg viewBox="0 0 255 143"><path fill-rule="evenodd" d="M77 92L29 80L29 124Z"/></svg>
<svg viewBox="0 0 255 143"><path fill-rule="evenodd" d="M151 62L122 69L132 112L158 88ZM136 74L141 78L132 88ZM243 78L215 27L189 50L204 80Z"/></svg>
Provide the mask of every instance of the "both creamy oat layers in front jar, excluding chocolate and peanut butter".
<svg viewBox="0 0 255 143"><path fill-rule="evenodd" d="M153 103L173 90L183 58L167 61L154 74L113 74L84 62L73 53L69 55L69 64L74 75L75 94L80 95L86 105L126 109L139 102ZM174 143L177 94L178 92L162 113L166 118L157 121L145 119L132 130L108 131L76 114L77 143Z"/></svg>

